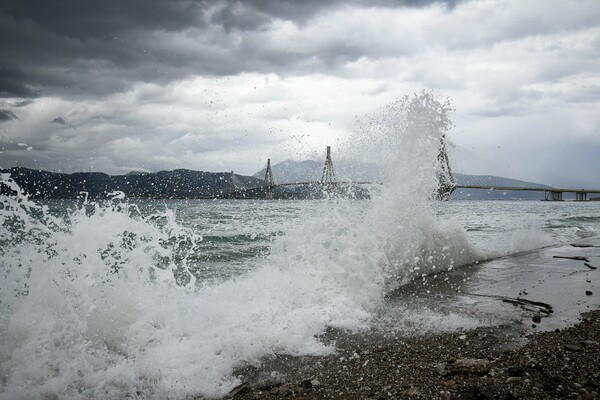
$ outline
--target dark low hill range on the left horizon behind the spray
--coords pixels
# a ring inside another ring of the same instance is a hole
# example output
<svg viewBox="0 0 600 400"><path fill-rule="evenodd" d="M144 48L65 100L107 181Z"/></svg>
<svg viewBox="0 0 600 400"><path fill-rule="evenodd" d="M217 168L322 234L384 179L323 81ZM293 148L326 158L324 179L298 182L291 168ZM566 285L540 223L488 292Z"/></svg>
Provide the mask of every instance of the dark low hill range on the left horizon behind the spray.
<svg viewBox="0 0 600 400"><path fill-rule="evenodd" d="M19 187L33 198L106 198L122 191L130 198L214 198L230 192L228 172L204 172L188 169L107 175L101 172L54 173L28 168L0 169L9 173ZM236 190L262 185L251 176L234 175ZM0 193L10 190L0 185Z"/></svg>

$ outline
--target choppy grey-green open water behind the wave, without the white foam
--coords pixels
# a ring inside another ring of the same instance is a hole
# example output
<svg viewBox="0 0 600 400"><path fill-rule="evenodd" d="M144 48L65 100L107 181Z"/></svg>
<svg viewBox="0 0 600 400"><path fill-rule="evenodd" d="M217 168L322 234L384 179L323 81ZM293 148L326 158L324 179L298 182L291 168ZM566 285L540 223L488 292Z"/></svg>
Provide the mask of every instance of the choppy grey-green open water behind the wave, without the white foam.
<svg viewBox="0 0 600 400"><path fill-rule="evenodd" d="M69 202L52 203L51 207L61 209ZM278 237L306 221L327 221L327 214L340 217L344 212L362 216L372 205L344 200L138 200L133 204L146 217L173 211L181 227L202 237L196 243L198 251L187 255L188 267L201 281L223 280L255 269ZM460 230L477 259L600 235L600 202L464 200L430 202L429 206L436 223ZM306 234L326 237L331 228L316 226L315 232Z"/></svg>

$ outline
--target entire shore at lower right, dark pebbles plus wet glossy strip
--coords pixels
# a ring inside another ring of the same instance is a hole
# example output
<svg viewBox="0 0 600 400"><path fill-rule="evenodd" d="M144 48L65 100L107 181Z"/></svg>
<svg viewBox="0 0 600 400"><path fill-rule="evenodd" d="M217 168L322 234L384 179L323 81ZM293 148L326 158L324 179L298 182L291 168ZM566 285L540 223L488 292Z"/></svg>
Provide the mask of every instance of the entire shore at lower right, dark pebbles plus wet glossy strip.
<svg viewBox="0 0 600 400"><path fill-rule="evenodd" d="M242 369L229 397L600 398L599 278L592 238L418 279L371 331L326 332L335 354Z"/></svg>

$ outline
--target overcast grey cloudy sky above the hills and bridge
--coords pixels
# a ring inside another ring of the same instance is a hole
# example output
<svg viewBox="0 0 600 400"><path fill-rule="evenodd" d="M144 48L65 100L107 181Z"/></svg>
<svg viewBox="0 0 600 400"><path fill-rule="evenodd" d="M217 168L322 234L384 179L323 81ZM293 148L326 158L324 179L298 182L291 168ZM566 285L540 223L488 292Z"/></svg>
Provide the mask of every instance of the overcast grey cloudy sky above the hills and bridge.
<svg viewBox="0 0 600 400"><path fill-rule="evenodd" d="M0 167L254 174L449 98L455 171L600 188L597 0L2 0Z"/></svg>

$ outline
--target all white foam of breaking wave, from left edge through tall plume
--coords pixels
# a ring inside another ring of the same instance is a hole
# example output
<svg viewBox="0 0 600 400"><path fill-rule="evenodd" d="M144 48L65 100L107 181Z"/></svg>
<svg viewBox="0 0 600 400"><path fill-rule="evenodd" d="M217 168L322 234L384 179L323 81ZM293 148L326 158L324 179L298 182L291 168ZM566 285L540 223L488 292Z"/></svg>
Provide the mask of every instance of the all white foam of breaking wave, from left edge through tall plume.
<svg viewBox="0 0 600 400"><path fill-rule="evenodd" d="M223 396L236 368L327 354L326 327L367 328L401 282L472 261L464 230L439 223L426 200L448 124L440 107L422 93L360 132L387 143L390 171L367 210L324 201L255 270L219 284L175 278L190 278L184 244L202 232L172 210L143 218L115 194L62 221L22 194L3 197L0 397Z"/></svg>

